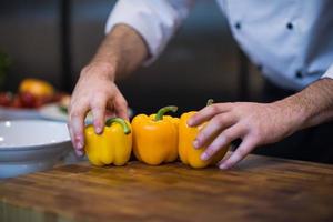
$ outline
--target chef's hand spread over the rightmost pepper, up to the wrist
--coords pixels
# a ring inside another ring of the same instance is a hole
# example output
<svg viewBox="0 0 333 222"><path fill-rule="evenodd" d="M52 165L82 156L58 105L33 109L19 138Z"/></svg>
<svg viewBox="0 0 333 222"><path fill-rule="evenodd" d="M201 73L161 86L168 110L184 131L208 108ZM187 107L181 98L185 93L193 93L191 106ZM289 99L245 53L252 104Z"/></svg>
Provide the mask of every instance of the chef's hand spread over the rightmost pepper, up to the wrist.
<svg viewBox="0 0 333 222"><path fill-rule="evenodd" d="M280 141L301 124L300 113L283 101L215 103L194 114L188 124L195 127L205 121L209 121L206 127L193 141L195 148L206 147L202 160L210 159L232 141L242 139L238 149L219 163L219 168L224 170L240 162L255 147Z"/></svg>

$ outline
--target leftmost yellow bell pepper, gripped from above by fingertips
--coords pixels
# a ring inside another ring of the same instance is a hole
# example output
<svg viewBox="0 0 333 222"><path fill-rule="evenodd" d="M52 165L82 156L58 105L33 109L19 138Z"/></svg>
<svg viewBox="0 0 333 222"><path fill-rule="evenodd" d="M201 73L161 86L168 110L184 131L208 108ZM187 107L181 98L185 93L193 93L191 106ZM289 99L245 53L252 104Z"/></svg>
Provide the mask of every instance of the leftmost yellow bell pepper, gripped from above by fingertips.
<svg viewBox="0 0 333 222"><path fill-rule="evenodd" d="M84 129L84 150L91 164L124 165L132 152L131 125L123 119L111 118L105 122L102 134L95 134L93 125Z"/></svg>

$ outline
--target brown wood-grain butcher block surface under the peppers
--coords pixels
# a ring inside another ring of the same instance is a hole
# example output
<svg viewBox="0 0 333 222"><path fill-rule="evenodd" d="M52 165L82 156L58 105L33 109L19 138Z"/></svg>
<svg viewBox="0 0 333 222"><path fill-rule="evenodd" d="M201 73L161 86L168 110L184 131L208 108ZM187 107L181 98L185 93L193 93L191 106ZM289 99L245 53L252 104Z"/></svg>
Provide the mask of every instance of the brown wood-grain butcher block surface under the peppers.
<svg viewBox="0 0 333 222"><path fill-rule="evenodd" d="M333 221L333 167L250 155L238 168L67 165L0 183L0 221Z"/></svg>

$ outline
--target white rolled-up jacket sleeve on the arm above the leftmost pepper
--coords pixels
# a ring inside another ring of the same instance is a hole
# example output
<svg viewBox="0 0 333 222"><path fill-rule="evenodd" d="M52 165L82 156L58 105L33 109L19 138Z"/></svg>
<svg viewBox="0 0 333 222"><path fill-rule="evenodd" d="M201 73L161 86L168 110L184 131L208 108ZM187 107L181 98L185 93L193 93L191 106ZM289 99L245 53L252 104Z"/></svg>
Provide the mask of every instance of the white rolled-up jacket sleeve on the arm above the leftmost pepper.
<svg viewBox="0 0 333 222"><path fill-rule="evenodd" d="M105 33L115 24L125 23L145 41L153 62L189 14L194 0L119 0L110 13Z"/></svg>

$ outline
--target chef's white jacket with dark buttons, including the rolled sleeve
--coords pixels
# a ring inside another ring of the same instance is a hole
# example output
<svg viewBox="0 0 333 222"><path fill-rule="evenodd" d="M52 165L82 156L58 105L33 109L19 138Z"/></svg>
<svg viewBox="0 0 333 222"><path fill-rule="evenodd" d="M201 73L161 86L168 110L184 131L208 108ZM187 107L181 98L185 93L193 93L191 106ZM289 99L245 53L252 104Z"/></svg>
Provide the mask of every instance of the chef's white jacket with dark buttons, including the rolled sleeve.
<svg viewBox="0 0 333 222"><path fill-rule="evenodd" d="M154 61L195 0L119 0L105 32L125 23L147 42ZM275 84L300 90L333 79L332 0L216 0L231 31L262 73ZM193 37L195 38L195 37Z"/></svg>

